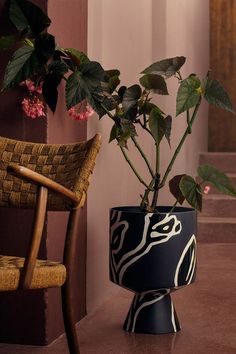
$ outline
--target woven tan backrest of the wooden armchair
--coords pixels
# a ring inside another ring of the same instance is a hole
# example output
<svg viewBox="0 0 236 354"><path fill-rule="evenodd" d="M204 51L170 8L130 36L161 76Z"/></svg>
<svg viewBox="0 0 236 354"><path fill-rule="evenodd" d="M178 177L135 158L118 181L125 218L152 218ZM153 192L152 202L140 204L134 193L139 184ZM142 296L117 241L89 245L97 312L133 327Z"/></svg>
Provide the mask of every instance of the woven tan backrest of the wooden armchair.
<svg viewBox="0 0 236 354"><path fill-rule="evenodd" d="M9 171L17 164L28 167L74 191L79 198L87 191L89 176L100 147L98 135L74 144L41 144L0 137L0 206L33 208L37 185ZM67 210L68 204L49 191L48 210Z"/></svg>

